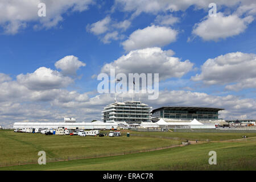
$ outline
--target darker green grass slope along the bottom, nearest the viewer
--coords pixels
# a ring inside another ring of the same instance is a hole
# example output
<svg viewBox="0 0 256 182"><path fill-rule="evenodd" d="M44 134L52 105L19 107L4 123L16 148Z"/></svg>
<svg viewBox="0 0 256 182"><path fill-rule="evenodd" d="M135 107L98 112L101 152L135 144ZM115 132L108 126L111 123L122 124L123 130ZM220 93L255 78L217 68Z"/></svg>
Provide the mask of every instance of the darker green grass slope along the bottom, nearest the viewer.
<svg viewBox="0 0 256 182"><path fill-rule="evenodd" d="M138 154L95 159L29 164L1 170L256 170L254 141L204 143ZM217 152L217 165L209 165L209 151Z"/></svg>

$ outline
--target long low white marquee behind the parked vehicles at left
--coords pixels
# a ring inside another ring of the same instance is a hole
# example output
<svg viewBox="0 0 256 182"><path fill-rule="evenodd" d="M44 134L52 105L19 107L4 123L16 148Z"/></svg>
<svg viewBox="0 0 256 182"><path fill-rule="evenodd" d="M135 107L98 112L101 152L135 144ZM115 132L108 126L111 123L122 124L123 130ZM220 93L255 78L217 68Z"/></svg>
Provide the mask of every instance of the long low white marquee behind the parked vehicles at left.
<svg viewBox="0 0 256 182"><path fill-rule="evenodd" d="M80 123L65 123L65 122L16 122L14 129L34 128L34 129L58 129L64 127L65 129L84 129L84 130L111 130L117 129L118 124L115 122L104 123L101 121L95 122L80 122Z"/></svg>

